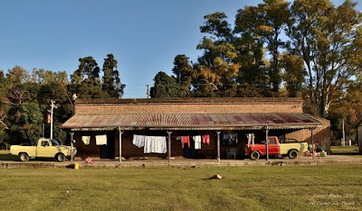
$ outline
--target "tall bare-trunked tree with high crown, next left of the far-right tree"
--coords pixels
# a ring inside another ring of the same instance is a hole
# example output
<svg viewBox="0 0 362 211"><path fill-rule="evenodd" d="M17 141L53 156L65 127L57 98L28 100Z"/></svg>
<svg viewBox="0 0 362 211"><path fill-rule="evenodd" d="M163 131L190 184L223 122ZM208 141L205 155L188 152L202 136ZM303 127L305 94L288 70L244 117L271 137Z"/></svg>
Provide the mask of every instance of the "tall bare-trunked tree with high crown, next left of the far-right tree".
<svg viewBox="0 0 362 211"><path fill-rule="evenodd" d="M264 0L258 6L245 6L238 10L235 19L235 32L240 32L249 41L265 41L271 54L269 78L271 91L278 95L281 85L280 49L282 31L290 22L289 3L284 0Z"/></svg>

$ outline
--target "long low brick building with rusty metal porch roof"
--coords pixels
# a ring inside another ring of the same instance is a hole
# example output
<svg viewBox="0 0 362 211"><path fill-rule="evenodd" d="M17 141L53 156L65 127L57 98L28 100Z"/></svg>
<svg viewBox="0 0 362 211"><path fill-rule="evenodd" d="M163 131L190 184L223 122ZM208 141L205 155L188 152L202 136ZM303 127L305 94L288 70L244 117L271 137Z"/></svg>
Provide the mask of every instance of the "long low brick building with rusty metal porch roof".
<svg viewBox="0 0 362 211"><path fill-rule="evenodd" d="M169 153L176 159L226 159L235 150L243 159L245 144L251 137L265 140L266 128L281 141L311 142L313 134L319 147L329 149L329 121L303 114L300 98L77 99L75 114L62 124L74 133L78 156L104 159ZM138 138L151 148L158 144L157 153L138 145Z"/></svg>

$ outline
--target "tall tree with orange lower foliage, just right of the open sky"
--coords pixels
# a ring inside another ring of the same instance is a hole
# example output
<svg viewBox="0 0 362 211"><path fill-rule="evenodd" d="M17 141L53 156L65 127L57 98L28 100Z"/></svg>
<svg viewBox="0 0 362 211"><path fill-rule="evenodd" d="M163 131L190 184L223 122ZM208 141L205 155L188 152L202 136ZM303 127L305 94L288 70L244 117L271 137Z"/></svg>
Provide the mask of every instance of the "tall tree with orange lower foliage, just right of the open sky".
<svg viewBox="0 0 362 211"><path fill-rule="evenodd" d="M200 31L210 36L204 37L197 45L197 49L204 50L204 54L198 58L199 65L195 65L195 94L234 96L241 65L235 62L238 52L233 46L232 29L225 20L227 16L224 13L208 14L204 18L205 23ZM234 90L230 92L230 89Z"/></svg>

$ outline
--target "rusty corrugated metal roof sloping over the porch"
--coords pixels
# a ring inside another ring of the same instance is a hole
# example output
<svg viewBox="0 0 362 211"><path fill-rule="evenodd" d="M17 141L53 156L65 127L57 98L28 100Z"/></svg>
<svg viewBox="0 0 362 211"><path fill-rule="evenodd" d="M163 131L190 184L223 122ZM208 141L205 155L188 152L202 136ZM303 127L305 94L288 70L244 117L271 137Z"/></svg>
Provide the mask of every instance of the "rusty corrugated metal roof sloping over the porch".
<svg viewBox="0 0 362 211"><path fill-rule="evenodd" d="M305 114L129 114L73 115L62 128L122 130L252 130L268 125L271 129L301 129L322 124Z"/></svg>

